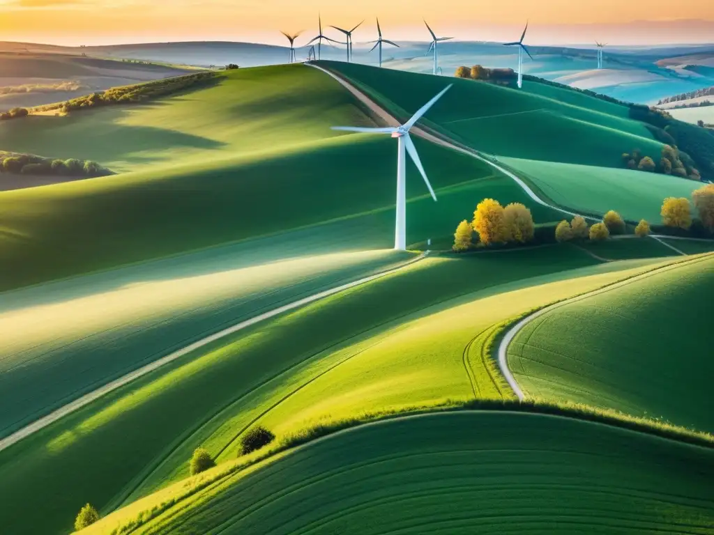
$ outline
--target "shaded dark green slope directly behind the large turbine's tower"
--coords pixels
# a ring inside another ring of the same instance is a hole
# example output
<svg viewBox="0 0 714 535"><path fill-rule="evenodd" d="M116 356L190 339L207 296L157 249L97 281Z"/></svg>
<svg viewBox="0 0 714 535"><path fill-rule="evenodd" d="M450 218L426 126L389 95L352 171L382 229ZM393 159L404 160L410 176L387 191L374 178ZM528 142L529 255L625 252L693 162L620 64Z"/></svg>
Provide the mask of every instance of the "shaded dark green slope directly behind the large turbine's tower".
<svg viewBox="0 0 714 535"><path fill-rule="evenodd" d="M408 243L452 234L484 197L528 203L486 164L416 145L440 199L408 164ZM390 138L341 136L295 152L0 193L0 290L358 215L369 216L362 224L373 239L345 236L340 250L391 247L395 168ZM530 204L536 220L556 219ZM315 232L334 243L340 229Z"/></svg>

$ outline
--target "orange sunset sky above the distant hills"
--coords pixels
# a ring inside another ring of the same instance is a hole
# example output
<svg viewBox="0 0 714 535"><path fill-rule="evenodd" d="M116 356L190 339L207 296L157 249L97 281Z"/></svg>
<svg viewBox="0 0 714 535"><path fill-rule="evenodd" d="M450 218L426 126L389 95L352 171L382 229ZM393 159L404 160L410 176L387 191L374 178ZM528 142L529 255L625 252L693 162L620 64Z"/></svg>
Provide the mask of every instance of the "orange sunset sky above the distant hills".
<svg viewBox="0 0 714 535"><path fill-rule="evenodd" d="M530 19L531 44L714 43L714 0L0 0L0 11L0 39L68 45L283 44L281 29L313 36L318 11L323 24L368 19L355 42L374 38L377 15L396 40L426 40L425 17L438 34L465 40L512 40ZM659 24L653 30L643 21Z"/></svg>

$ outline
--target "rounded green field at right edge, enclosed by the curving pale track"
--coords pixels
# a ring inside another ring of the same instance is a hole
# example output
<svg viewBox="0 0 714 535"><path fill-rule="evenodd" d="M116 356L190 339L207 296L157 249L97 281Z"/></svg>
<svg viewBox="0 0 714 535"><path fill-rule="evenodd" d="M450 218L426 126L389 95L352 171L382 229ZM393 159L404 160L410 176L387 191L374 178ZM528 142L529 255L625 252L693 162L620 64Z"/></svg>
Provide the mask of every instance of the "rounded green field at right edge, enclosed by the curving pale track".
<svg viewBox="0 0 714 535"><path fill-rule="evenodd" d="M568 302L529 322L508 362L523 392L714 431L714 255Z"/></svg>

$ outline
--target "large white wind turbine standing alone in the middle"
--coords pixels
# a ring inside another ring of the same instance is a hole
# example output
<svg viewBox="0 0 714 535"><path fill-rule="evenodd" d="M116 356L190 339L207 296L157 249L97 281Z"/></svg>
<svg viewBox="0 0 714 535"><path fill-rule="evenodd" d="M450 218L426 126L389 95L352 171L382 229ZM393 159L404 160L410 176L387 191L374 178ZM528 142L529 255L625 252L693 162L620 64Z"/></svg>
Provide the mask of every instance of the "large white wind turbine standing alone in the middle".
<svg viewBox="0 0 714 535"><path fill-rule="evenodd" d="M426 172L424 171L423 165L421 165L421 160L416 152L416 147L414 142L411 141L409 137L409 130L418 121L421 116L428 111L431 106L438 101L441 96L443 96L446 91L451 88L451 85L447 86L441 93L428 101L424 106L422 106L414 116L409 119L406 123L401 126L396 127L386 127L386 128L362 128L360 126L333 126L333 130L341 130L347 132L367 132L367 133L388 133L391 134L393 138L398 140L398 151L397 151L397 211L396 211L396 225L394 229L394 248L396 250L406 250L406 153L411 156L414 165L421 173L424 182L426 182L426 187L431 193L431 197L436 201L436 193L434 193L429 179L426 178Z"/></svg>

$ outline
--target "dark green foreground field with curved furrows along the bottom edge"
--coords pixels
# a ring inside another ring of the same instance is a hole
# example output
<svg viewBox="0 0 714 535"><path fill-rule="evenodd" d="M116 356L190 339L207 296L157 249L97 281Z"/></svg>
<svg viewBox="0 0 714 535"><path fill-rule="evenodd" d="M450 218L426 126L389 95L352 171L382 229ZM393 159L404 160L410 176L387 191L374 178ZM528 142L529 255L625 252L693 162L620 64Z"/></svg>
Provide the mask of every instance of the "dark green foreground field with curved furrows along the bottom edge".
<svg viewBox="0 0 714 535"><path fill-rule="evenodd" d="M578 419L429 414L306 444L134 533L703 535L713 471L712 449Z"/></svg>

